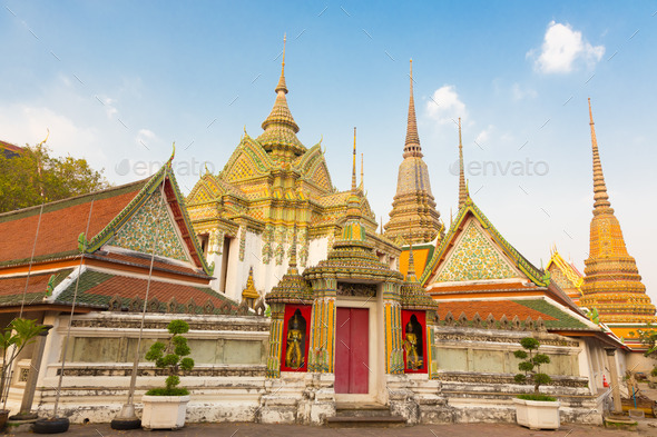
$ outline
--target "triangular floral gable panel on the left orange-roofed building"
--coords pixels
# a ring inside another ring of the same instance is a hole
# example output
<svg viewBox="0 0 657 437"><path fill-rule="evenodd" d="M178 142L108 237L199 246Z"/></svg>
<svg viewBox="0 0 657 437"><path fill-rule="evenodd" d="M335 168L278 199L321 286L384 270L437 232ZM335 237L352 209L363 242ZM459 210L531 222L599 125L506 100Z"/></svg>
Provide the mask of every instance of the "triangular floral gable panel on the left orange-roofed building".
<svg viewBox="0 0 657 437"><path fill-rule="evenodd" d="M159 232L157 231L158 216L160 217ZM176 227L168 213L166 201L161 201L159 190L150 195L146 202L108 241L108 245L150 254L156 238L156 255L180 261L190 261L183 240L176 232Z"/></svg>

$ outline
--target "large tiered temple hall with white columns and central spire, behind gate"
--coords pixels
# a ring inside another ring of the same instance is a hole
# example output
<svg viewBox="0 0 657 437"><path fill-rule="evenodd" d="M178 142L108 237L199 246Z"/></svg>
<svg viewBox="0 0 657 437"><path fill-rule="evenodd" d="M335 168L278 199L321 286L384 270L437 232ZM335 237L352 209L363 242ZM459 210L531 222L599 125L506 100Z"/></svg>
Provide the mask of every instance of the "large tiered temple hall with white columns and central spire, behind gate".
<svg viewBox="0 0 657 437"><path fill-rule="evenodd" d="M296 136L300 128L286 99L285 49L275 92L263 133L253 138L245 131L224 169L204 175L186 199L194 231L214 266L213 289L237 301L247 298L244 290L251 296L255 287L264 296L276 285L287 269L293 238L301 270L326 259L352 196L333 186L322 142L308 149ZM375 234L362 183L357 198L376 257L396 268L400 249ZM249 272L253 287L247 287Z"/></svg>

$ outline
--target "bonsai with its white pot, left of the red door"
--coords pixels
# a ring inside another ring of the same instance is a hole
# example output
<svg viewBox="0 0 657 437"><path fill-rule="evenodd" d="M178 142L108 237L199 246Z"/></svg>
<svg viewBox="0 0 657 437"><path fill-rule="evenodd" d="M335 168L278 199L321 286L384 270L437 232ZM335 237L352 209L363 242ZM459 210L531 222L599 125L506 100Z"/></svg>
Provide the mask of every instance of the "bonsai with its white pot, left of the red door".
<svg viewBox="0 0 657 437"><path fill-rule="evenodd" d="M183 336L189 330L189 325L184 320L171 320L167 330L171 335L168 340L154 342L146 354L147 360L155 361L157 368L168 373L165 387L150 389L141 397L141 426L146 429L178 429L185 426L189 391L177 386L180 384L178 375L194 367L194 360L187 357L190 354L187 338Z"/></svg>

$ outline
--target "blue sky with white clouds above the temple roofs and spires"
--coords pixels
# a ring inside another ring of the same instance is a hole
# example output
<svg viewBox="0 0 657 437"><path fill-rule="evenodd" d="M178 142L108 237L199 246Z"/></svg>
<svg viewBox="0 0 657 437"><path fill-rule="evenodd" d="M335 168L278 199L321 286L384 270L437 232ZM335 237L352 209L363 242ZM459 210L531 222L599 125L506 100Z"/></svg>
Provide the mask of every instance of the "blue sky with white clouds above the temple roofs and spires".
<svg viewBox="0 0 657 437"><path fill-rule="evenodd" d="M124 183L176 141L188 192L258 136L286 79L298 138L323 139L350 185L353 127L365 188L388 220L413 58L424 158L443 220L455 212L463 118L470 191L537 266L557 245L581 270L592 208L587 97L630 255L657 301L653 2L16 1L0 8L0 139L85 157ZM452 168L453 169L453 168Z"/></svg>

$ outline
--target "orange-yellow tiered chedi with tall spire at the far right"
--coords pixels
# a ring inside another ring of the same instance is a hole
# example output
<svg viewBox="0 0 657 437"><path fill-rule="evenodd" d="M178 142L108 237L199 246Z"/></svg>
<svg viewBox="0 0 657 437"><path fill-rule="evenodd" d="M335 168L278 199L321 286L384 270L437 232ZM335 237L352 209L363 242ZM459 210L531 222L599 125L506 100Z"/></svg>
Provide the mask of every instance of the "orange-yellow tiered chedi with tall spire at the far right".
<svg viewBox="0 0 657 437"><path fill-rule="evenodd" d="M589 99L591 142L594 150L594 218L590 229L589 258L585 261L585 278L580 304L597 308L600 321L647 322L655 320L655 306L646 295L646 287L636 261L625 247L620 224L607 195L598 142ZM611 325L614 330L614 327Z"/></svg>

